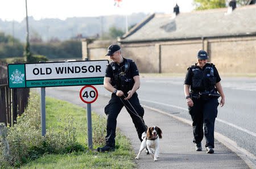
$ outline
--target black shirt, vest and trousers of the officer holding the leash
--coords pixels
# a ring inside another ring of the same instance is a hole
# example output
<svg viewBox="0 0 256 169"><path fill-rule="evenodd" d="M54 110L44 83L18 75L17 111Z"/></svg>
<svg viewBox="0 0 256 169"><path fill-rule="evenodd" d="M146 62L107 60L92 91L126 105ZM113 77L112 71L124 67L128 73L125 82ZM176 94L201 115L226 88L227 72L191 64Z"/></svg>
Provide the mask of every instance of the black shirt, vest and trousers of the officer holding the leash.
<svg viewBox="0 0 256 169"><path fill-rule="evenodd" d="M110 83L112 84L112 86L117 88L117 90L122 90L125 94L125 96L121 97L112 94L109 104L105 107L105 113L106 115L108 115L106 127L106 146L115 147L114 138L115 128L117 126L117 116L124 105L127 111L129 112L131 119L133 120L133 123L138 133L139 140L142 141L142 133L147 130L147 127L144 124L143 120L144 109L141 107L141 104L139 103L137 92L135 92L133 96L131 96L131 98L129 99L130 103L127 100L124 100L124 98L128 95L127 92L133 88L133 77L135 77L136 75L139 75L137 66L132 60L128 60L126 58L123 58L123 62L119 65L115 62L111 62L106 67L105 77L111 78Z"/></svg>

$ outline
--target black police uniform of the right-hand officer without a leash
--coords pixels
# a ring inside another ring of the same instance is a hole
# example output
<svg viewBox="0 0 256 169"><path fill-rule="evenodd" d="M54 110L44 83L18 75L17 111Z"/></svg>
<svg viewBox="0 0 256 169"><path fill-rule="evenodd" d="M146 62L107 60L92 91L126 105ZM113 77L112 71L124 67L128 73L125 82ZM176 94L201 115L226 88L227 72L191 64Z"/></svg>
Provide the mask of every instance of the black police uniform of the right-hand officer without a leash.
<svg viewBox="0 0 256 169"><path fill-rule="evenodd" d="M184 84L191 87L193 107L188 107L188 110L193 120L193 142L201 143L205 136L205 147L214 148L214 121L219 104L214 86L220 81L220 75L212 63L207 63L203 69L196 65L189 67L184 81ZM209 94L215 96L209 96Z"/></svg>

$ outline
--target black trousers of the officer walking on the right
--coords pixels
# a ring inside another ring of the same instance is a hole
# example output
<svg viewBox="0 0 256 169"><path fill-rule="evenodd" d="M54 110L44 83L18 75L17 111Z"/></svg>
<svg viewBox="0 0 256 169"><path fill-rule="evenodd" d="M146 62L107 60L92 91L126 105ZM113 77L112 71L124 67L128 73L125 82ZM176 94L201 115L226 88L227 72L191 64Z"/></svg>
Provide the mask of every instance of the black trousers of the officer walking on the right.
<svg viewBox="0 0 256 169"><path fill-rule="evenodd" d="M193 103L193 107L188 107L193 121L193 142L200 143L205 136L205 147L214 148L214 122L218 113L218 99L193 99Z"/></svg>

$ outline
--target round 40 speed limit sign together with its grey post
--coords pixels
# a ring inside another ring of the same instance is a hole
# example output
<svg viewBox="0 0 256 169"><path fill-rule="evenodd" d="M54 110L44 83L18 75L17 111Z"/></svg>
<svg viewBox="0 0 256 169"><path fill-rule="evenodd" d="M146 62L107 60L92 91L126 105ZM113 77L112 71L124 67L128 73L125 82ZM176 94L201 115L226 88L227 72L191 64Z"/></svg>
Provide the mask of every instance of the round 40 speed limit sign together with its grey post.
<svg viewBox="0 0 256 169"><path fill-rule="evenodd" d="M86 103L87 108L87 132L88 132L88 148L93 149L92 143L92 108L90 103L93 103L98 98L98 91L93 86L84 86L80 90L80 98Z"/></svg>

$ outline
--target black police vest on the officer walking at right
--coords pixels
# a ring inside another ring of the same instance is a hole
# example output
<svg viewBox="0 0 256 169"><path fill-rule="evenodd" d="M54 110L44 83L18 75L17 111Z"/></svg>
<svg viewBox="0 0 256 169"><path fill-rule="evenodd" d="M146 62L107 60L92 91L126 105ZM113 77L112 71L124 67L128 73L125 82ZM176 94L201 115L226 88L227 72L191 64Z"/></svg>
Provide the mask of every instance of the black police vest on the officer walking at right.
<svg viewBox="0 0 256 169"><path fill-rule="evenodd" d="M212 91L214 89L216 77L214 77L213 66L212 63L207 63L204 70L196 65L189 67L192 71L192 90Z"/></svg>

